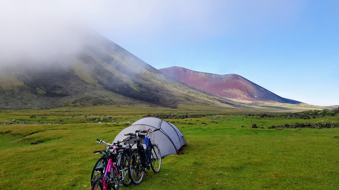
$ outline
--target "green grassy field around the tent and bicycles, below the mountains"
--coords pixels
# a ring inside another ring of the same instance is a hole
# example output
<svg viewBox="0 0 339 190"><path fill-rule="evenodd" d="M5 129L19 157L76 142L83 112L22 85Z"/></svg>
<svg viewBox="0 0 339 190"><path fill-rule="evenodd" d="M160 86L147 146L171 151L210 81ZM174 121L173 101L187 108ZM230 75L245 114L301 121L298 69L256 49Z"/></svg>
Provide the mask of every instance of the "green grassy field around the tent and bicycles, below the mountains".
<svg viewBox="0 0 339 190"><path fill-rule="evenodd" d="M6 125L0 126L0 189L88 190L99 158L93 151L102 148L95 142L97 138L113 141L144 114L186 111L230 115L166 119L185 136L185 154L165 157L159 173L150 170L140 185L121 189L338 189L339 139L334 136L339 136L339 128L268 129L285 123L338 121L338 115L305 120L260 118L212 108L192 110L95 107L2 111L0 124ZM36 118L30 118L32 115ZM85 123L107 116L114 122ZM31 124L9 125L16 123L5 122L10 119ZM264 128L253 129L252 123Z"/></svg>

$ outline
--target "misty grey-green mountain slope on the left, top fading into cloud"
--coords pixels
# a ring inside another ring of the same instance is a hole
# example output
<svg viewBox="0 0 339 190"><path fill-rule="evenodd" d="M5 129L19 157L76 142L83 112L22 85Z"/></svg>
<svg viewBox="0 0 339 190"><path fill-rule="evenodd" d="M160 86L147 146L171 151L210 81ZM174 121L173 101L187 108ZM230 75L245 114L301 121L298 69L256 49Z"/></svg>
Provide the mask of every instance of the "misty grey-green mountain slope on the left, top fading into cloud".
<svg viewBox="0 0 339 190"><path fill-rule="evenodd" d="M234 108L216 97L166 77L105 37L91 33L76 54L22 60L0 69L0 109L200 104ZM1 64L0 64L1 65Z"/></svg>

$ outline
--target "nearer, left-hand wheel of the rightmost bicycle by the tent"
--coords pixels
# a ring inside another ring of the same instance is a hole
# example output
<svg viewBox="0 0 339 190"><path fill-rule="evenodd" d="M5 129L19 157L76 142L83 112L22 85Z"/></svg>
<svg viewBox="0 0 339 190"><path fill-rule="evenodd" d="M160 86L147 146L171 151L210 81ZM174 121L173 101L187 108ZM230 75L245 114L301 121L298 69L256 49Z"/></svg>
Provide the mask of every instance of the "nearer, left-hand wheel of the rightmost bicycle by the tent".
<svg viewBox="0 0 339 190"><path fill-rule="evenodd" d="M138 152L132 152L128 159L128 175L134 184L140 184L144 177L143 167Z"/></svg>

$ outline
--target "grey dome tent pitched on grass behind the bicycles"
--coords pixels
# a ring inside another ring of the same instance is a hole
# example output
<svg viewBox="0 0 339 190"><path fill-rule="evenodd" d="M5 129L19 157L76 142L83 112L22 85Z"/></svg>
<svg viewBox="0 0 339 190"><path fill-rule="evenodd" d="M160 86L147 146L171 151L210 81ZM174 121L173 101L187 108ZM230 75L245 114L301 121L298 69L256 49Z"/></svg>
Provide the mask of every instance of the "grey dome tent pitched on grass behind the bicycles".
<svg viewBox="0 0 339 190"><path fill-rule="evenodd" d="M176 154L177 151L186 144L185 137L175 125L155 117L139 119L131 126L124 128L115 137L114 142L125 139L126 136L124 136L124 134L126 133L134 133L136 130L144 130L149 128L152 130L160 128L160 130L153 132L154 135L152 135L151 139L158 142L157 144L161 151L161 157ZM133 144L134 139L132 139L130 143Z"/></svg>

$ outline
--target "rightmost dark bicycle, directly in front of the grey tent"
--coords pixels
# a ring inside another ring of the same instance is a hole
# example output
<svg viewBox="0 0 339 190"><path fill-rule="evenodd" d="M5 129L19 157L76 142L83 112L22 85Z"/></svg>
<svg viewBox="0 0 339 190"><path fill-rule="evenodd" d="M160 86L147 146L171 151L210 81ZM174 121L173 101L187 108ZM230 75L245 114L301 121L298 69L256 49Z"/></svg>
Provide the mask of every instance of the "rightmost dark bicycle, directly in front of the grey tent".
<svg viewBox="0 0 339 190"><path fill-rule="evenodd" d="M152 168L155 173L158 173L161 168L161 153L157 142L153 142L151 140L151 133L160 130L155 129L145 129L145 130L136 130L134 133L127 133L127 135L135 135L137 139L134 140L134 144L137 143L137 148L132 149L131 155L128 160L128 175L131 178L134 184L140 184L144 172ZM146 149L144 149L141 139L139 138L140 133L146 133L145 145ZM134 145L133 144L133 145ZM133 146L132 145L132 146Z"/></svg>

